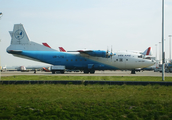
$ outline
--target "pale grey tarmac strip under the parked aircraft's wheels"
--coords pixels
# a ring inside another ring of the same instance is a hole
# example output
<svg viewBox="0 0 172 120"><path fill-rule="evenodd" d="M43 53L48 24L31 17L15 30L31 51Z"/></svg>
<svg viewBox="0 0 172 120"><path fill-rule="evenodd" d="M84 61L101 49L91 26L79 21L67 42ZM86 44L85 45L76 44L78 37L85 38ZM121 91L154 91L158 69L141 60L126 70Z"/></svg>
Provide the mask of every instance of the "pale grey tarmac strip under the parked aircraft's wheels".
<svg viewBox="0 0 172 120"><path fill-rule="evenodd" d="M50 76L162 76L160 72L154 71L141 71L136 74L131 74L131 71L96 71L95 74L84 74L83 72L65 72L64 74L52 74L51 72L34 71L21 72L21 71L6 71L1 72L0 76L13 76L13 75L50 75ZM165 73L165 76L172 77L172 73Z"/></svg>

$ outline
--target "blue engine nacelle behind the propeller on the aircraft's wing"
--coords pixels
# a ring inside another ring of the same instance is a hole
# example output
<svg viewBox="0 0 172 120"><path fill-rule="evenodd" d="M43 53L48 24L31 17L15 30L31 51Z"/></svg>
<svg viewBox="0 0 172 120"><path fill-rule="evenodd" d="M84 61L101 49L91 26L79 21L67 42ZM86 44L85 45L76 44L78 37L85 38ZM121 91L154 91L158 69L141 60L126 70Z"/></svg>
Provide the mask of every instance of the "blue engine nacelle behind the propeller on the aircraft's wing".
<svg viewBox="0 0 172 120"><path fill-rule="evenodd" d="M103 50L94 50L87 52L87 54L94 56L94 57L103 57L103 58L109 58L110 52L109 51L103 51Z"/></svg>

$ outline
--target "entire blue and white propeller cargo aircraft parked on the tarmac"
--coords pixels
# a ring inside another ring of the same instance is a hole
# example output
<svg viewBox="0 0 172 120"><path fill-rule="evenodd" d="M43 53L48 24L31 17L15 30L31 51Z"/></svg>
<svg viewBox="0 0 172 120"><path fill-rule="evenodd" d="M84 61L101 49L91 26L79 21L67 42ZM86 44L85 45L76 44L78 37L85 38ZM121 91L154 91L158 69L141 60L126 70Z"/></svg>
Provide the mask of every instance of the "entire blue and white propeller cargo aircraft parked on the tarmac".
<svg viewBox="0 0 172 120"><path fill-rule="evenodd" d="M8 53L54 66L65 66L65 69L82 70L84 73L94 74L95 70L131 70L131 73L135 73L138 68L155 64L154 60L146 59L150 47L143 53L112 53L108 50L60 52L47 45L30 41L22 24L15 24L10 35L11 45L7 48Z"/></svg>

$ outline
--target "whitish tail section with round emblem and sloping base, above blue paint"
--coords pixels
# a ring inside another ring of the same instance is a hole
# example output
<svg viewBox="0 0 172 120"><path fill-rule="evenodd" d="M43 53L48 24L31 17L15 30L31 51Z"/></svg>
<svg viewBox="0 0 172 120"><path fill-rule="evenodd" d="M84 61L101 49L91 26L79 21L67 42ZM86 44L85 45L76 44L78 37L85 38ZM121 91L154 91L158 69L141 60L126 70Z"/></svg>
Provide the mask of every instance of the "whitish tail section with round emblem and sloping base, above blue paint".
<svg viewBox="0 0 172 120"><path fill-rule="evenodd" d="M16 54L22 51L57 51L51 47L30 41L22 24L15 24L13 31L9 31L9 33L11 36L11 45L7 48L7 52L9 53Z"/></svg>

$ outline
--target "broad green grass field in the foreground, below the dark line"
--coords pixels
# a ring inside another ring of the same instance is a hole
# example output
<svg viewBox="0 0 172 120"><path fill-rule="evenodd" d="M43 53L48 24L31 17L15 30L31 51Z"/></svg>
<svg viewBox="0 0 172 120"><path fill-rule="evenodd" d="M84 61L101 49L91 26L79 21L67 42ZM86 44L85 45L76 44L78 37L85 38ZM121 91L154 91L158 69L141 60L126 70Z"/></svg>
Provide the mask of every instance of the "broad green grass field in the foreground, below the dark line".
<svg viewBox="0 0 172 120"><path fill-rule="evenodd" d="M0 85L0 119L171 119L171 93L159 85Z"/></svg>

